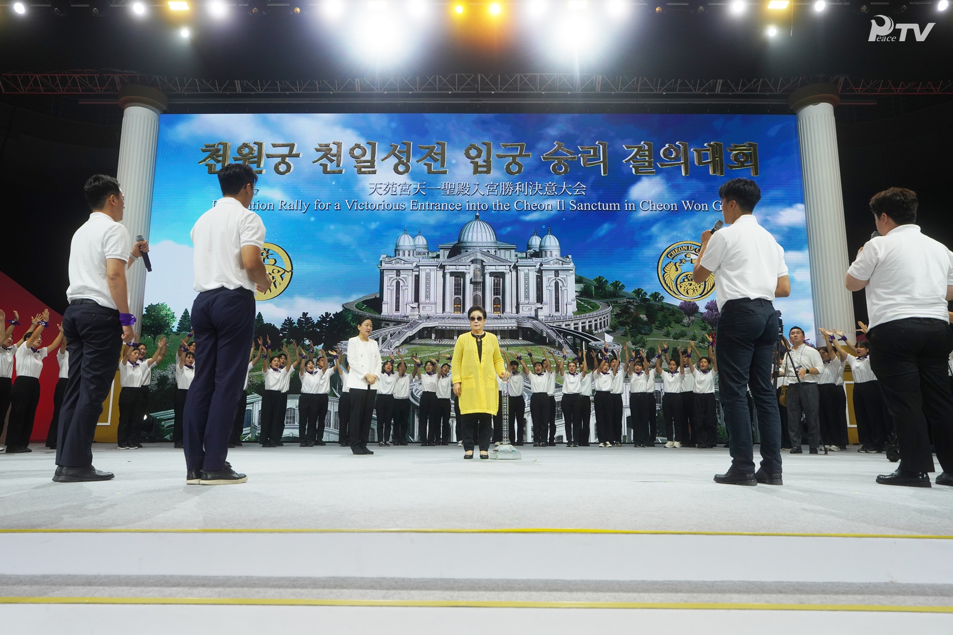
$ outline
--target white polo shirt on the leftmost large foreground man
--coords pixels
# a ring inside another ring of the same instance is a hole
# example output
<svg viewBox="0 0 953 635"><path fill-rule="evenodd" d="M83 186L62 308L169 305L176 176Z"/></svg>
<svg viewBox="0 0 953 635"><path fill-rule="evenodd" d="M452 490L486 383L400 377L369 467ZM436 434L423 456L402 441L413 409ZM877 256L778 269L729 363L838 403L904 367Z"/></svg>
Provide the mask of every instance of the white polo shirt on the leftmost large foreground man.
<svg viewBox="0 0 953 635"><path fill-rule="evenodd" d="M106 284L106 261L110 258L125 263L132 252L129 231L101 211L90 214L90 220L76 229L70 244L69 301L89 299L106 308L116 308Z"/></svg>

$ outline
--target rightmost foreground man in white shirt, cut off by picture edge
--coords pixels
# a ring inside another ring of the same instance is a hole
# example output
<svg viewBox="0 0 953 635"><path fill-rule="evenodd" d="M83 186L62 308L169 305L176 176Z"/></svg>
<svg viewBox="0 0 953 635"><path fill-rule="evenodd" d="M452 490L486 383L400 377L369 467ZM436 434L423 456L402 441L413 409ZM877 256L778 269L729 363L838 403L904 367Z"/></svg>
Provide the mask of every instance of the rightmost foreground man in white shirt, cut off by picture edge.
<svg viewBox="0 0 953 635"><path fill-rule="evenodd" d="M946 364L953 348L947 301L953 299L953 253L924 236L917 194L885 189L870 199L880 236L871 238L847 269L845 286L866 289L870 368L897 427L900 466L882 485L929 487L935 471L926 422L943 472L953 486L953 395Z"/></svg>

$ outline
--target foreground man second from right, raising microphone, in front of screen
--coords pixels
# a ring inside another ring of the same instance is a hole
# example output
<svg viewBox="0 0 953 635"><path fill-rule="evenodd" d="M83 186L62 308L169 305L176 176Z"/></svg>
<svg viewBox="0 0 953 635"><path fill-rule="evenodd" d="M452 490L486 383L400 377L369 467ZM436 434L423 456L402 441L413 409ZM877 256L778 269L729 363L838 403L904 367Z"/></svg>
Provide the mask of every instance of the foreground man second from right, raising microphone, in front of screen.
<svg viewBox="0 0 953 635"><path fill-rule="evenodd" d="M728 428L732 465L716 483L781 485L781 416L771 379L780 314L772 304L791 293L784 250L760 227L752 211L761 199L758 184L732 179L719 189L726 227L701 234L693 277L715 274L718 307L720 399ZM755 472L754 443L746 389L758 407L761 465Z"/></svg>

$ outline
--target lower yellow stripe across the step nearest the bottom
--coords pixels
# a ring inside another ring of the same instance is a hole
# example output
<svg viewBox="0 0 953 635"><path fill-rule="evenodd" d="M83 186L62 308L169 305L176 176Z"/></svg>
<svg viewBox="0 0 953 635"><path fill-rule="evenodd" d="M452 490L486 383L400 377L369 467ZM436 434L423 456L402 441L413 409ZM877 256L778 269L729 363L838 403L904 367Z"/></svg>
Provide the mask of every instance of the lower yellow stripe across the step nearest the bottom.
<svg viewBox="0 0 953 635"><path fill-rule="evenodd" d="M953 606L786 605L719 602L470 602L457 600L309 600L274 598L0 597L0 605L412 606L456 608L668 608L704 610L953 613Z"/></svg>

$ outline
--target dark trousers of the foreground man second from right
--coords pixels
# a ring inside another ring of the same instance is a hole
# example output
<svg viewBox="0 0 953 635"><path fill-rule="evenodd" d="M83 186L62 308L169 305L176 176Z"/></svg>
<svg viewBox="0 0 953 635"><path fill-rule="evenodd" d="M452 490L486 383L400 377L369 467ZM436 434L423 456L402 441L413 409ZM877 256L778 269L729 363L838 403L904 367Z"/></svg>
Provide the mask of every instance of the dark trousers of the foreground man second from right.
<svg viewBox="0 0 953 635"><path fill-rule="evenodd" d="M778 342L778 311L768 300L729 300L718 323L721 407L732 468L754 473L754 439L746 392L758 407L761 466L781 472L781 416L771 379L771 357Z"/></svg>

